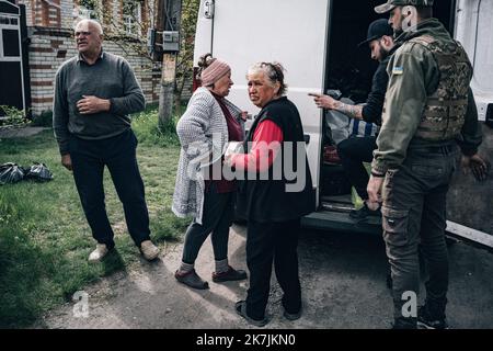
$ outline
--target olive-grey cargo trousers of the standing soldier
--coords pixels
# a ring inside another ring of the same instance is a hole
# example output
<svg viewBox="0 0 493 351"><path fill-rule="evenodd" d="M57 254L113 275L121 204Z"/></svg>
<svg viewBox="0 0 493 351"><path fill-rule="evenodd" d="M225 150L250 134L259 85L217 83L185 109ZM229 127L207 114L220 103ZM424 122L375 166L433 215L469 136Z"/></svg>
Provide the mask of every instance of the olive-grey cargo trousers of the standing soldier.
<svg viewBox="0 0 493 351"><path fill-rule="evenodd" d="M404 163L387 172L382 188L382 226L393 281L394 318L402 316L404 292L419 294L419 249L428 279L426 304L445 318L448 253L446 196L456 161L455 146L409 149Z"/></svg>

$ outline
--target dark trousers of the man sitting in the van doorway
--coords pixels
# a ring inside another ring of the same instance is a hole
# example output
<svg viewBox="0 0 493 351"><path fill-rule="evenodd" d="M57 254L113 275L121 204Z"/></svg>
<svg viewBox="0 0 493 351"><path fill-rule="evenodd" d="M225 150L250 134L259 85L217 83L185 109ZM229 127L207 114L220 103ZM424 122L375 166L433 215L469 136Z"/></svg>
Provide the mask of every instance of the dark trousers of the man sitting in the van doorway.
<svg viewBox="0 0 493 351"><path fill-rule="evenodd" d="M337 155L341 158L344 172L363 200L368 200L366 186L369 180L363 162L371 162L376 148L377 137L375 136L352 137L337 145Z"/></svg>

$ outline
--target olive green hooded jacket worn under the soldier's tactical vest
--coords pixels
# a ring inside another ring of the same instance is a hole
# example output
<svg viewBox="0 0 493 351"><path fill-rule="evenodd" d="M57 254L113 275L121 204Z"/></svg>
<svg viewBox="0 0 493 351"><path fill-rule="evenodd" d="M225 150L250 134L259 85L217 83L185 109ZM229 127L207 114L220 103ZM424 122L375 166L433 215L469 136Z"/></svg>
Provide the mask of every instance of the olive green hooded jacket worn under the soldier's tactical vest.
<svg viewBox="0 0 493 351"><path fill-rule="evenodd" d="M436 92L440 81L440 71L433 53L412 41L421 36L433 37L440 43L452 41L436 19L423 21L413 31L408 31L397 38L397 45L400 47L387 68L389 84L382 127L371 163L372 171L379 174L399 168L411 143L437 145L437 141L416 138L428 97ZM482 141L475 103L470 90L465 123L457 141L465 155L475 154Z"/></svg>

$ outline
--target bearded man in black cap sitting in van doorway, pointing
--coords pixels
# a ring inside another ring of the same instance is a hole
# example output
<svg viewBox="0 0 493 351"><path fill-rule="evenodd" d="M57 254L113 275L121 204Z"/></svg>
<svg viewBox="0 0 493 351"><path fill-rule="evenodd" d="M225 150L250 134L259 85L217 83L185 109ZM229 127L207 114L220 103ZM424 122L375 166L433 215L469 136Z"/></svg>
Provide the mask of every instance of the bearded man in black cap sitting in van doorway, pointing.
<svg viewBox="0 0 493 351"><path fill-rule="evenodd" d="M387 64L394 50L393 31L386 19L377 20L369 25L366 41L359 43L358 46L365 44L368 44L371 49L371 58L380 63L375 71L371 91L366 103L351 105L322 94L313 94L314 102L321 109L340 111L352 118L381 125L383 100L389 81ZM337 145L337 154L347 179L364 201L360 210L349 213L349 216L355 219L364 219L368 215L380 215L379 204L368 200L366 185L369 177L363 165L363 162L371 162L372 152L377 148L376 140L377 136L352 137Z"/></svg>

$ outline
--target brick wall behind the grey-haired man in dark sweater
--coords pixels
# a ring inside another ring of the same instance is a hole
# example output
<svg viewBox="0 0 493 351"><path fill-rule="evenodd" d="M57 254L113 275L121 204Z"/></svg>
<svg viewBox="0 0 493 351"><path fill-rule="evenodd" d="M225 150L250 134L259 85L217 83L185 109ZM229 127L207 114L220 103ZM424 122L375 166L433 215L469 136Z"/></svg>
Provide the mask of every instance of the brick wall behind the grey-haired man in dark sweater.
<svg viewBox="0 0 493 351"><path fill-rule="evenodd" d="M55 89L55 73L60 65L77 55L73 33L72 0L19 0L26 7L26 22L28 37L30 75L31 75L31 112L38 115L50 111ZM107 0L114 18L122 13L122 0ZM77 2L76 2L77 3ZM135 44L134 44L135 45ZM145 44L144 44L145 45ZM159 101L161 64L152 63L139 55L128 45L118 45L105 41L103 47L106 52L125 57L133 67L146 95L147 103ZM145 47L142 46L142 49Z"/></svg>

